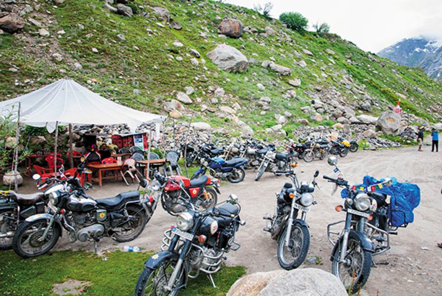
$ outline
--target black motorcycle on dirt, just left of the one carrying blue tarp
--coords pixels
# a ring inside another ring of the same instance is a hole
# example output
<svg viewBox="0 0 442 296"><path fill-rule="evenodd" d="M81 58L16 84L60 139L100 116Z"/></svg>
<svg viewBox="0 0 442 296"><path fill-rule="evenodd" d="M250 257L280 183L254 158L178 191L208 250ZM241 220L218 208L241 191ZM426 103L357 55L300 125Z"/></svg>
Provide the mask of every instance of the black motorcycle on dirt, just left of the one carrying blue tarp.
<svg viewBox="0 0 442 296"><path fill-rule="evenodd" d="M272 239L278 241L279 265L290 270L299 267L307 256L310 233L305 219L309 207L316 205L312 193L318 186L316 177L319 171L315 172L310 184L305 181L299 184L293 170L278 173L291 178L295 188L291 183L286 183L281 192L276 193L275 213L273 216L267 213L263 217L268 220L263 230L270 232ZM297 218L299 213L300 218Z"/></svg>

